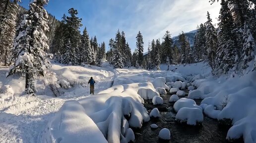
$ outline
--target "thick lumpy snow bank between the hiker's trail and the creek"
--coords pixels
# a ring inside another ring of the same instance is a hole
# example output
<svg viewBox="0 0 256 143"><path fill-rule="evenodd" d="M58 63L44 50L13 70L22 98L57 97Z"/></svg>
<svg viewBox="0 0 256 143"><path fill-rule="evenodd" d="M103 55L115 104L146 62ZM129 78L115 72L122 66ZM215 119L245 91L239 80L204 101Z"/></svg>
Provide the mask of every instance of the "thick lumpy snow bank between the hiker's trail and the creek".
<svg viewBox="0 0 256 143"><path fill-rule="evenodd" d="M81 143L85 138L89 139L88 143L133 141L134 134L128 127L140 128L143 122L150 120L146 108L141 104L144 101L138 94L138 90L146 90L145 87L154 90L150 83L124 84L113 86L95 96L66 102L50 120L44 140L50 143L57 139L64 143L70 143L72 139L75 143ZM96 138L89 137L92 136L91 130Z"/></svg>

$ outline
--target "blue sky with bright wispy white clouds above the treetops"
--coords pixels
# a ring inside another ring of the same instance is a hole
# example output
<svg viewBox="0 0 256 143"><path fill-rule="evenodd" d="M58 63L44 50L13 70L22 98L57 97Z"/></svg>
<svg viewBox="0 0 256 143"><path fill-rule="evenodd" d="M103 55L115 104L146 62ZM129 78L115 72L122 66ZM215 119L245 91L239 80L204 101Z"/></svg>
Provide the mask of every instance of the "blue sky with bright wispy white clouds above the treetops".
<svg viewBox="0 0 256 143"><path fill-rule="evenodd" d="M22 0L21 5L28 8L30 0ZM50 0L46 9L57 19L71 7L78 10L83 27L98 42L108 45L118 29L124 31L132 49L135 48L136 35L142 33L144 52L148 41L162 38L168 30L172 36L182 31L190 32L206 21L210 12L213 23L217 23L220 3L210 4L209 0Z"/></svg>

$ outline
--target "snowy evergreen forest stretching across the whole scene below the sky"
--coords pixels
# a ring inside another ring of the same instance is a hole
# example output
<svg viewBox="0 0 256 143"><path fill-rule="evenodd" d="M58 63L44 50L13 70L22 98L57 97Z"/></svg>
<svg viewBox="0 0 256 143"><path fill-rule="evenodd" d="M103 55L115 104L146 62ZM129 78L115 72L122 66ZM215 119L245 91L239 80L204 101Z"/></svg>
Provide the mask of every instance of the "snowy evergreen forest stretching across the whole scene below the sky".
<svg viewBox="0 0 256 143"><path fill-rule="evenodd" d="M26 77L28 94L36 92L34 76L44 75L45 69L51 68L49 58L67 65L101 67L108 61L114 68L134 66L148 70L160 70L160 64L206 61L218 76L256 70L256 0L220 0L219 23L214 26L207 13L207 21L197 27L193 46L184 32L179 36L180 46L175 46L171 33L166 31L161 40L152 39L144 48L139 31L134 36L133 53L125 32L117 31L106 52L105 42L99 44L86 28L80 32L82 19L77 17L76 9L70 8L68 15L58 21L44 9L48 1L34 0L29 10L18 5L20 0L0 1L0 63L12 66L7 76L20 72Z"/></svg>

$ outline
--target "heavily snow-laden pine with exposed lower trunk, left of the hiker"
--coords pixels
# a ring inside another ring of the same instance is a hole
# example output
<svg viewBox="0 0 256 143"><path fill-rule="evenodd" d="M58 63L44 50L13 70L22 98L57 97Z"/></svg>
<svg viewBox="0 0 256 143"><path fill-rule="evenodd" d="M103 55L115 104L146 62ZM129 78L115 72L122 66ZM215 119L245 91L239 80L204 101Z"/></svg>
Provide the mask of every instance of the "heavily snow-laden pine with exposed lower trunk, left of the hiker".
<svg viewBox="0 0 256 143"><path fill-rule="evenodd" d="M46 59L46 50L49 49L48 38L45 32L49 30L47 25L48 14L44 5L48 0L34 0L29 4L28 14L23 15L23 21L18 27L13 49L14 66L7 76L14 74L16 70L22 70L26 74L25 91L27 94L36 92L34 76L44 75L45 68L50 68L51 63Z"/></svg>

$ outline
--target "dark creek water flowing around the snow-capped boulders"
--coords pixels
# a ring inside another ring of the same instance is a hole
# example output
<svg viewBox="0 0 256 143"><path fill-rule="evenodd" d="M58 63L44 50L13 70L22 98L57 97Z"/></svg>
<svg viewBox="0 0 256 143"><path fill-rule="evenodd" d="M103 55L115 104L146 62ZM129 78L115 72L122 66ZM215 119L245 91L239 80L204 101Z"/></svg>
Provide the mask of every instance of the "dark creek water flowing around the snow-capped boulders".
<svg viewBox="0 0 256 143"><path fill-rule="evenodd" d="M218 121L204 116L201 126L188 126L177 123L175 121L176 113L173 109L174 103L169 103L171 95L161 96L164 105L154 106L152 100L145 100L144 106L148 112L157 107L161 117L159 119L151 119L144 123L141 129L133 129L135 134L135 143L229 143L226 141L228 128L218 125ZM182 97L180 97L182 98ZM200 104L201 100L196 100L196 104ZM159 128L151 129L151 124L157 124ZM170 141L160 141L158 133L161 129L167 128L171 132ZM239 140L233 143L243 143Z"/></svg>

